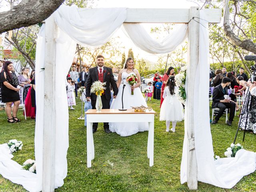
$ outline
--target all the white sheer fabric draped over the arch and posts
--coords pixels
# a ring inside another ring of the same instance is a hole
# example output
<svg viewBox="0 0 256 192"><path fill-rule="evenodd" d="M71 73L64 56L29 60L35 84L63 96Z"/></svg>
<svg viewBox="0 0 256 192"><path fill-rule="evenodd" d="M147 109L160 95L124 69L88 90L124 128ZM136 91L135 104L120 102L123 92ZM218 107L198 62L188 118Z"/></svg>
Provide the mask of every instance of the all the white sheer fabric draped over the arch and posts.
<svg viewBox="0 0 256 192"><path fill-rule="evenodd" d="M200 11L201 13L202 11ZM200 16L202 17L202 16ZM54 12L54 19L58 25L56 38L56 152L55 152L55 188L63 185L67 175L66 154L68 150L68 105L66 98L66 74L72 63L76 50L76 43L87 46L100 46L107 42L112 34L126 19L126 8L78 9L77 7L60 6ZM208 24L200 20L204 26ZM150 53L166 53L174 50L186 38L187 25L181 24L178 29L166 37L162 42L152 40L139 24L124 24L132 41L142 50ZM20 170L20 165L12 161L6 146L0 145L0 174L14 183L21 184L30 192L42 190L42 148L44 122L44 53L45 28L42 26L38 34L36 47L36 131L35 156L37 174ZM213 160L212 136L209 124L208 101L208 31L200 25L200 61L197 68L198 76L195 85L194 118L195 144L198 162L198 180L231 188L242 176L254 172L255 156L253 152L240 150L236 158ZM198 89L200 87L200 89ZM185 136L181 165L181 182L187 180L187 135L185 117ZM5 148L5 149L4 149ZM26 150L25 148L23 148ZM246 159L246 161L245 161ZM249 160L249 162L248 162ZM239 164L239 166L234 166ZM233 167L233 168L232 168ZM228 176L228 177L227 177ZM25 178L25 179L24 179Z"/></svg>

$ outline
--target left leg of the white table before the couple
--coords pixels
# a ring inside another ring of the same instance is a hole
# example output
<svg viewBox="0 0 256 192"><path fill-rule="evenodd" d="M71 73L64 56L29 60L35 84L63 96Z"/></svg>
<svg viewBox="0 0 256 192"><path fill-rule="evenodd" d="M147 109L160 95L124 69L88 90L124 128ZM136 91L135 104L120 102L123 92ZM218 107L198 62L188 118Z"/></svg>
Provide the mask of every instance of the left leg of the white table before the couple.
<svg viewBox="0 0 256 192"><path fill-rule="evenodd" d="M86 124L86 147L87 147L87 167L92 166L92 152L94 153L94 143L92 136L92 123L87 122ZM92 151L93 149L93 151ZM94 156L94 155L93 155Z"/></svg>

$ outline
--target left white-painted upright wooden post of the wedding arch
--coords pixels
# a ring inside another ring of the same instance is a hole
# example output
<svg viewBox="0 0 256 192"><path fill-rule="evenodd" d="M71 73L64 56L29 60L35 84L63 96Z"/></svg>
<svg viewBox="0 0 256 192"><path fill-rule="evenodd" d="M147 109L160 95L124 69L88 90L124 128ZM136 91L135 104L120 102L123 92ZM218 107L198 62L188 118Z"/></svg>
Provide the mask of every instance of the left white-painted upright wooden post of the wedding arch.
<svg viewBox="0 0 256 192"><path fill-rule="evenodd" d="M56 43L54 36L57 26L51 15L45 22L45 73L44 73L44 131L42 192L54 192L55 186L55 60Z"/></svg>

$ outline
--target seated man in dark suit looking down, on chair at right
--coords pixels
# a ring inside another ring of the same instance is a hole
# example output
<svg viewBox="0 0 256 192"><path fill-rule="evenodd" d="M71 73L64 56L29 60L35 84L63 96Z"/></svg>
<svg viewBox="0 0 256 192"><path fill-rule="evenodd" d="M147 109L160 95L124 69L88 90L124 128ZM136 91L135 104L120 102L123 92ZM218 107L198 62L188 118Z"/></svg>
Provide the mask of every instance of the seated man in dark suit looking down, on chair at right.
<svg viewBox="0 0 256 192"><path fill-rule="evenodd" d="M218 123L218 120L224 113L225 109L230 109L229 119L226 122L228 126L231 126L232 121L235 116L235 110L236 110L236 103L232 100L225 99L224 95L228 95L228 85L230 84L231 80L228 77L224 77L222 79L222 83L218 86L216 86L213 90L212 94L212 108L219 108L217 116L215 117L215 120L212 122L212 124Z"/></svg>

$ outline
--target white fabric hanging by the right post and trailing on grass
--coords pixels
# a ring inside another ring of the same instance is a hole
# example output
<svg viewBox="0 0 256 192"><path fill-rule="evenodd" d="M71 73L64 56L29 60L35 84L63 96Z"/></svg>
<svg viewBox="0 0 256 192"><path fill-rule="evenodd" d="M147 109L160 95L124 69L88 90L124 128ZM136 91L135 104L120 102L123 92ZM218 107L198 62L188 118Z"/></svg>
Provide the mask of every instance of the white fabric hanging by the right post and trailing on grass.
<svg viewBox="0 0 256 192"><path fill-rule="evenodd" d="M203 11L200 11L200 18L204 18ZM222 188L232 188L243 176L255 171L256 157L254 152L239 150L235 158L221 158L214 161L208 99L209 74L207 72L210 68L208 58L208 23L200 19L199 62L196 69L196 74L200 75L194 84L194 90L196 90L194 92L194 128L198 181ZM188 135L186 133L189 126L186 122L187 114L185 110L185 135L180 168L181 183L187 181Z"/></svg>

